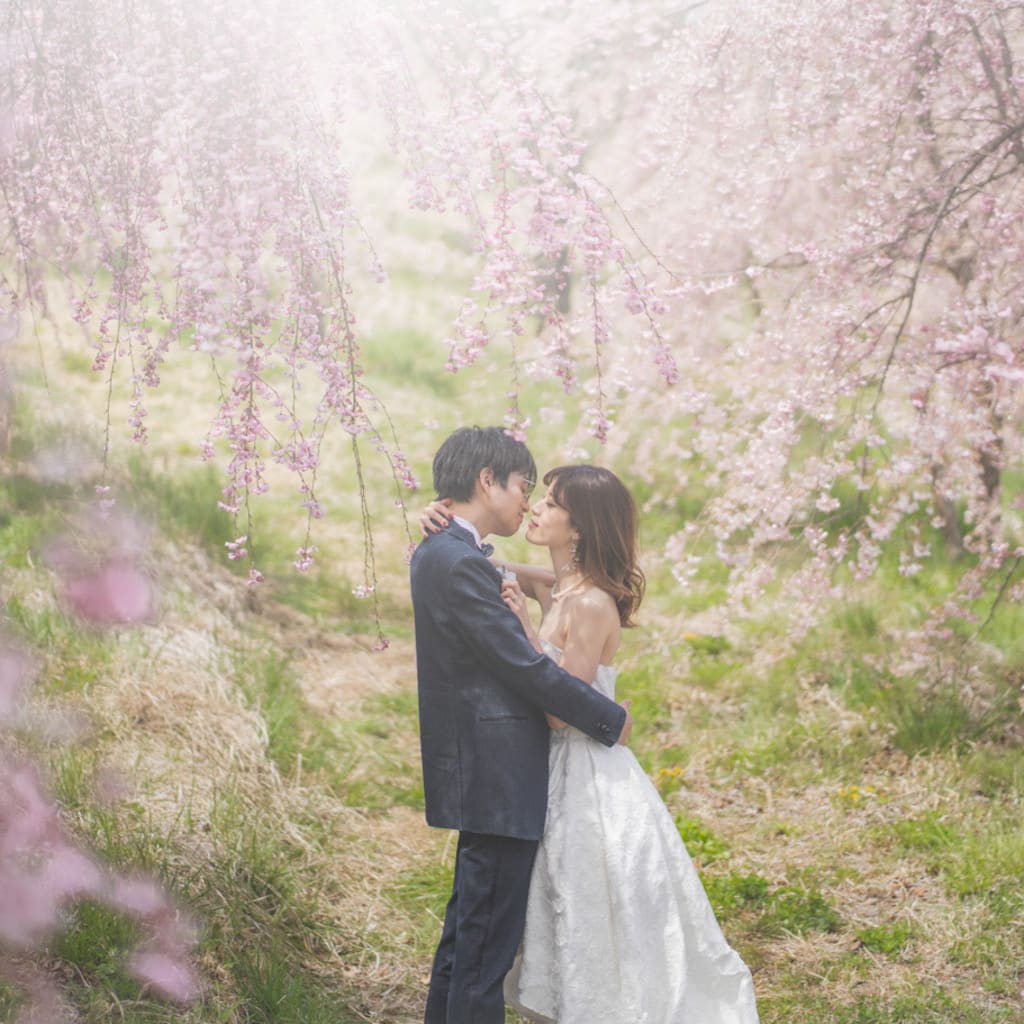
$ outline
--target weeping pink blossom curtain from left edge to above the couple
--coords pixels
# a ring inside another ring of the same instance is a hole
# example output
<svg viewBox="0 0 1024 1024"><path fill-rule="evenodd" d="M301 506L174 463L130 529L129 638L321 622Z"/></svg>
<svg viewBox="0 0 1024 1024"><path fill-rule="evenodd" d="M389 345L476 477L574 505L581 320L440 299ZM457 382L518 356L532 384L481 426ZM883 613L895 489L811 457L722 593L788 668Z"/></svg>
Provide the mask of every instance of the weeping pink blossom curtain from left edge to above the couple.
<svg viewBox="0 0 1024 1024"><path fill-rule="evenodd" d="M306 522L296 564L311 564L330 430L350 436L364 496L371 453L399 499L417 483L362 372L360 296L386 268L354 198L355 122L383 126L410 206L468 239L478 270L449 366L472 365L495 338L511 346L513 432L527 425L520 339L539 322L553 356L531 369L570 387L581 351L599 362L629 305L675 379L660 307L581 169L584 145L519 70L500 18L433 0L400 17L327 0L14 0L5 32L6 286L44 308L63 282L108 393L130 389L139 441L167 360L184 350L205 370L217 397L203 452L224 463L221 504L249 539L232 555L252 557L253 502L276 464ZM577 275L587 299L570 313ZM364 522L372 593L369 510Z"/></svg>

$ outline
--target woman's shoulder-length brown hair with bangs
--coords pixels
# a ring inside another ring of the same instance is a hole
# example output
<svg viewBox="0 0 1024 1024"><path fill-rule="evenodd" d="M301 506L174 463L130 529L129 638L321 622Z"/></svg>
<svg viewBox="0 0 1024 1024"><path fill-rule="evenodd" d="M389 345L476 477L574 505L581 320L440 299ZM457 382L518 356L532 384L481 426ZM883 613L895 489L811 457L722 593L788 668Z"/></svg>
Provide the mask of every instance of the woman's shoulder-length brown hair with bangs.
<svg viewBox="0 0 1024 1024"><path fill-rule="evenodd" d="M639 516L632 495L600 466L557 466L545 473L544 482L580 535L580 571L611 596L623 626L633 626L646 581L637 565Z"/></svg>

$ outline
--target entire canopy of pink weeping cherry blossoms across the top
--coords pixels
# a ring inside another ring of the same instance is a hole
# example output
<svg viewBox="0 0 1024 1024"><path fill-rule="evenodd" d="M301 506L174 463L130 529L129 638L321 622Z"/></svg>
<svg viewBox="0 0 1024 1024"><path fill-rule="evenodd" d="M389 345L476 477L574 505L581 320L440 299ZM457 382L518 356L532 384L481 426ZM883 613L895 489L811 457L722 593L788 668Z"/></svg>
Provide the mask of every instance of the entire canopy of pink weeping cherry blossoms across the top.
<svg viewBox="0 0 1024 1024"><path fill-rule="evenodd" d="M364 369L430 360L407 325L360 325L385 264L415 291L440 261L449 368L510 358L511 430L560 381L651 501L699 495L669 537L684 584L716 558L751 612L782 579L800 630L898 539L908 578L965 556L933 638L1024 593L1016 3L414 8L19 0L7 19L12 308L56 310L65 274L140 439L162 376L208 368L231 557L281 467L311 564L334 427L376 597L370 453L399 505L416 481ZM367 185L381 168L408 184L397 222L395 189ZM631 426L609 433L615 410Z"/></svg>

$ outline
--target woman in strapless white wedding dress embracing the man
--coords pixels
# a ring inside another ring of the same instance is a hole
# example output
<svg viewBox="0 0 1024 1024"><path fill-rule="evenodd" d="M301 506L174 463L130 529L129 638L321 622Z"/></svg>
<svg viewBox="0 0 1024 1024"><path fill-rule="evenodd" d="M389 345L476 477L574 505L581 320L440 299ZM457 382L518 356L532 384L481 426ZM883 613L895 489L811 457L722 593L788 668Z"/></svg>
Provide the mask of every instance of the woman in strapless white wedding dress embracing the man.
<svg viewBox="0 0 1024 1024"><path fill-rule="evenodd" d="M502 595L538 650L611 697L620 634L643 596L636 506L596 466L562 466L544 482L526 540L548 548L552 570L499 563ZM750 971L633 753L549 724L547 825L509 1005L541 1024L756 1024Z"/></svg>

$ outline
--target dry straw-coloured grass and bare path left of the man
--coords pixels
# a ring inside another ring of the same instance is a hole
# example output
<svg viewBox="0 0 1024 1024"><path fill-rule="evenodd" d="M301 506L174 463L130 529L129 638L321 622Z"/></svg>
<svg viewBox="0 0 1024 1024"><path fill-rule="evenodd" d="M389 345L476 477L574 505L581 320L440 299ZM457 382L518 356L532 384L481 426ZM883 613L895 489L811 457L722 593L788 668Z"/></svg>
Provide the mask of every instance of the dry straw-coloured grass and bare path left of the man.
<svg viewBox="0 0 1024 1024"><path fill-rule="evenodd" d="M181 855L213 856L202 837L223 841L215 822L229 794L234 817L262 822L302 853L294 871L309 886L317 934L309 967L357 992L367 1020L413 1020L424 968L410 961L410 923L384 891L409 864L438 856L443 841L407 808L348 807L301 765L283 777L259 709L231 678L232 654L251 647L255 624L266 656L301 652L293 671L310 715L357 718L368 696L412 685L411 644L375 654L372 638L331 635L288 608L261 602L265 613L254 614L221 566L198 552L166 554L189 563L174 566L180 589L158 624L123 645L91 701L119 762L135 767L153 826L174 836L187 815L197 827L183 837Z"/></svg>

